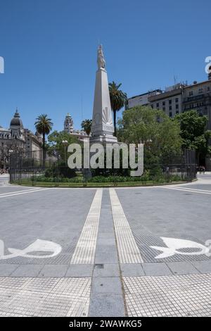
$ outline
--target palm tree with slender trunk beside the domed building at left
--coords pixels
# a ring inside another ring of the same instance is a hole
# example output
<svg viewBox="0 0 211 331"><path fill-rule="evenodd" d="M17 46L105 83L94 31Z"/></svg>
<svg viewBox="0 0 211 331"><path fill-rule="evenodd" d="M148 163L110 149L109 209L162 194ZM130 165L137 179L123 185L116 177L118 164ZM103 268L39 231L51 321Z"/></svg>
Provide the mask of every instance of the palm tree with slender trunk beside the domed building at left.
<svg viewBox="0 0 211 331"><path fill-rule="evenodd" d="M48 118L48 115L41 114L36 118L36 122L34 123L37 132L42 135L43 139L43 146L42 146L42 153L43 153L43 167L45 168L45 137L49 135L50 131L52 130L53 123L51 122L51 118Z"/></svg>

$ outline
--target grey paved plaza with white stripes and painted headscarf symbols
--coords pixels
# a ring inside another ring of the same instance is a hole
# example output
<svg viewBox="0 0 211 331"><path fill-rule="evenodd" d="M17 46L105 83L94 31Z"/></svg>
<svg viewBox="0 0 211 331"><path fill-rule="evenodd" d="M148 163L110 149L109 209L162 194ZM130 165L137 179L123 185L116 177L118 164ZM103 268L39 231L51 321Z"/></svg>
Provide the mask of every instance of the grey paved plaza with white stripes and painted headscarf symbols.
<svg viewBox="0 0 211 331"><path fill-rule="evenodd" d="M211 174L158 187L8 185L0 316L211 316Z"/></svg>

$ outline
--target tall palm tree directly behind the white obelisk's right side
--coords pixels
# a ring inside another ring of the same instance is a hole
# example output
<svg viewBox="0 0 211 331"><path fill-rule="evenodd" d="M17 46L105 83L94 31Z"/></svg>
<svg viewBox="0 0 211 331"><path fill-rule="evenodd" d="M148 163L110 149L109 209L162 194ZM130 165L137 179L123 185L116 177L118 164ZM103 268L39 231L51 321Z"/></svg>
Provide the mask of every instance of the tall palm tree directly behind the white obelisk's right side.
<svg viewBox="0 0 211 331"><path fill-rule="evenodd" d="M127 102L127 94L122 92L120 88L122 84L117 85L115 82L109 83L109 94L110 94L110 106L113 110L113 122L115 127L116 135L116 113L124 107Z"/></svg>

